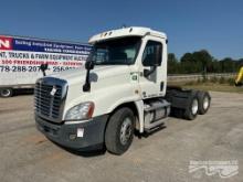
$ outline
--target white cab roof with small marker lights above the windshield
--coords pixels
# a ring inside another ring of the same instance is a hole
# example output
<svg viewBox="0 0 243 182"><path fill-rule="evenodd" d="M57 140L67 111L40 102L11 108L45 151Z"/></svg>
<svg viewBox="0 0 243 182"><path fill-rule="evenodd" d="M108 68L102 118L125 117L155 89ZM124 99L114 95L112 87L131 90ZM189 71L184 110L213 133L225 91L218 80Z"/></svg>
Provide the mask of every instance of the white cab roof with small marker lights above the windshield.
<svg viewBox="0 0 243 182"><path fill-rule="evenodd" d="M159 36L161 39L167 39L167 35L163 32L155 31L149 28L130 26L130 28L122 28L117 30L109 30L106 32L102 32L99 34L92 36L88 40L88 43L94 44L96 42L110 40L110 39L117 39L124 36L145 36L147 34Z"/></svg>

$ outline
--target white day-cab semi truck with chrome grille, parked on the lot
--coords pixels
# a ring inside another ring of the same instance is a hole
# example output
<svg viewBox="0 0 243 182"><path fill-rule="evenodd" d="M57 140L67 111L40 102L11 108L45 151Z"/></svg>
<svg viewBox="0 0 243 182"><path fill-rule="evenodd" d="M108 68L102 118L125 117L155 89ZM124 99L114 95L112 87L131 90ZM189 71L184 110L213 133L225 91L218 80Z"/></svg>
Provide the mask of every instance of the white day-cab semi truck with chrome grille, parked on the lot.
<svg viewBox="0 0 243 182"><path fill-rule="evenodd" d="M167 85L167 35L149 28L98 33L85 67L36 81L36 128L72 150L123 154L169 116L193 120L210 108L208 92Z"/></svg>

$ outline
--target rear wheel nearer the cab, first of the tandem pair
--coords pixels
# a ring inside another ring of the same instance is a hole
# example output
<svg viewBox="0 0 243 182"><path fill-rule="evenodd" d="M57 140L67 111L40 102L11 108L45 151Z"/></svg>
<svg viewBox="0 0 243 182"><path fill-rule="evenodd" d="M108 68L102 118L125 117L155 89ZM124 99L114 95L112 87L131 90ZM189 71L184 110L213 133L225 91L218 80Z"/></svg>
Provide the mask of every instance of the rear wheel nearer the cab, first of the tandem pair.
<svg viewBox="0 0 243 182"><path fill-rule="evenodd" d="M191 97L189 97L188 99L189 104L184 110L184 118L188 120L193 120L198 116L199 99L197 97L197 94L191 94Z"/></svg>

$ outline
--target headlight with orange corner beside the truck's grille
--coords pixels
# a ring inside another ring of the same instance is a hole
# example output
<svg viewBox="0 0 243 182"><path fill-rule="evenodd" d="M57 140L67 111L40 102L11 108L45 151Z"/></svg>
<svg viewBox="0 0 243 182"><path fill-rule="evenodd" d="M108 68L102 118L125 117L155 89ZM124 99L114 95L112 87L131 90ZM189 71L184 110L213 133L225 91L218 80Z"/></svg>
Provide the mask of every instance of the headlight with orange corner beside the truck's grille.
<svg viewBox="0 0 243 182"><path fill-rule="evenodd" d="M95 105L92 101L82 103L72 107L65 115L65 120L89 119L94 113Z"/></svg>

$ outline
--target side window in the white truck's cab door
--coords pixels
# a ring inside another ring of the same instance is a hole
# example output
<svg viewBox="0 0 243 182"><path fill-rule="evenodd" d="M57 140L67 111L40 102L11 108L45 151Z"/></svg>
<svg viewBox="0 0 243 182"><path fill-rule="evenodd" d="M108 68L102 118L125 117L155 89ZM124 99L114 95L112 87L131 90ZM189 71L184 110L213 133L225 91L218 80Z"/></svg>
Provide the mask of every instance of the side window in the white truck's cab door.
<svg viewBox="0 0 243 182"><path fill-rule="evenodd" d="M161 65L162 44L156 41L148 41L142 54L142 65L154 66Z"/></svg>

